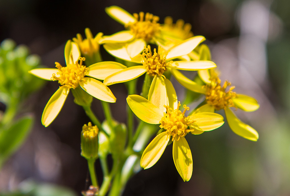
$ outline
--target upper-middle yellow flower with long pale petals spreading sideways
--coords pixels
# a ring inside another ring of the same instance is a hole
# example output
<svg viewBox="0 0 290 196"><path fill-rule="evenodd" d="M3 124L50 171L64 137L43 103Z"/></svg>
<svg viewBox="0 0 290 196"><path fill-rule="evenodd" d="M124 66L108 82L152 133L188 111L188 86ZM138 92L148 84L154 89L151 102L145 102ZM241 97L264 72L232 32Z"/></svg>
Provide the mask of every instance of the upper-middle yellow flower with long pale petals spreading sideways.
<svg viewBox="0 0 290 196"><path fill-rule="evenodd" d="M163 73L167 70L172 72L172 70L176 69L196 71L215 68L216 65L212 61L173 61L173 59L182 57L191 52L199 43L204 40L205 39L202 36L191 37L173 46L170 50L167 51L159 47L158 52L156 49L152 51L150 45L148 45L148 47L143 51L142 55L139 55L139 51L134 50L139 47L138 43L134 45L134 43L137 42L135 41L129 45L129 48L132 48L129 50L129 53L135 52L135 56L128 55L128 50L126 49L110 50L110 48L106 48L106 46L104 46L107 51L118 58L135 63L142 63L142 65L128 67L108 76L104 80L104 84L111 85L120 82L126 82L133 80L143 75L144 73L147 73L152 77L164 77Z"/></svg>

